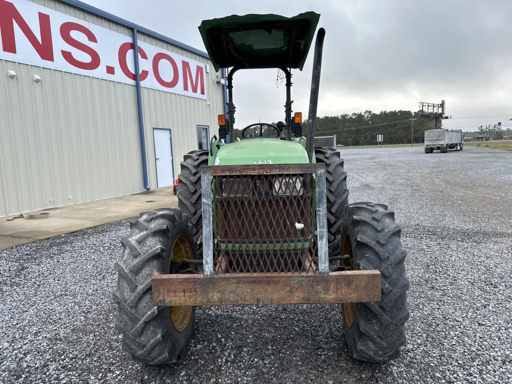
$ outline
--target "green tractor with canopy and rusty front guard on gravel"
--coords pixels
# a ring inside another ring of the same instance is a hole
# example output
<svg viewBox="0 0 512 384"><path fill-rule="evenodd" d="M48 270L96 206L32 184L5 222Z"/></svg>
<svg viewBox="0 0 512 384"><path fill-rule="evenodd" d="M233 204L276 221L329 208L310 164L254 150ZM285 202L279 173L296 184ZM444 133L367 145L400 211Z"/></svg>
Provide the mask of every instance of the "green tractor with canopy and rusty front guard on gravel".
<svg viewBox="0 0 512 384"><path fill-rule="evenodd" d="M178 207L141 214L122 239L115 324L133 359L176 361L196 306L270 304L343 304L351 356L400 355L409 318L400 227L384 204L348 204L339 152L313 145L323 28L306 136L302 114L292 116L291 70L302 70L318 19L233 15L199 27L215 69L229 70L228 116L209 151L185 155ZM285 121L251 124L234 140L233 74L260 68L286 76Z"/></svg>

